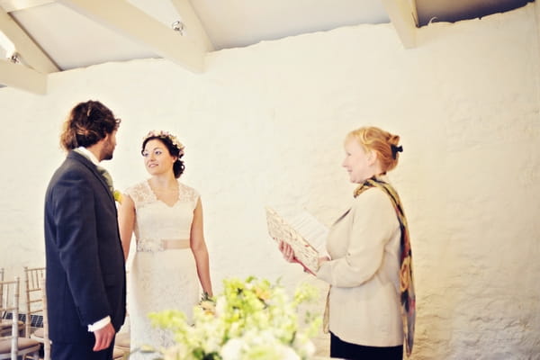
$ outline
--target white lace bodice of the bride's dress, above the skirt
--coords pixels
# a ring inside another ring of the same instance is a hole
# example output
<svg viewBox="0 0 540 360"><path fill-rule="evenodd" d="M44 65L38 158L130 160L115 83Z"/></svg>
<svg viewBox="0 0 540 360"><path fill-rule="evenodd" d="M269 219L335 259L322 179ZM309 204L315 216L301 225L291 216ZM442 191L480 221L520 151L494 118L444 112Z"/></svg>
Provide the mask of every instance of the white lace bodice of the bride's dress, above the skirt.
<svg viewBox="0 0 540 360"><path fill-rule="evenodd" d="M192 187L178 182L178 199L172 206L157 199L148 181L131 186L127 193L135 203L137 251L162 251L163 240L190 238L193 210L199 199Z"/></svg>

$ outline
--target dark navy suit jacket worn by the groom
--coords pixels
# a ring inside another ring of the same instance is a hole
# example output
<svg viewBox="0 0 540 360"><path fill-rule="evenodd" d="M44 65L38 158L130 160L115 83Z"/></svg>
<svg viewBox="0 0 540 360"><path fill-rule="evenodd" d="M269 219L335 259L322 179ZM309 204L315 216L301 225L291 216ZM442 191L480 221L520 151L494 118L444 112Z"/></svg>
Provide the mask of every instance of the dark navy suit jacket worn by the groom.
<svg viewBox="0 0 540 360"><path fill-rule="evenodd" d="M112 193L87 157L70 151L45 198L49 338L77 343L107 316L116 331L126 309L126 282Z"/></svg>

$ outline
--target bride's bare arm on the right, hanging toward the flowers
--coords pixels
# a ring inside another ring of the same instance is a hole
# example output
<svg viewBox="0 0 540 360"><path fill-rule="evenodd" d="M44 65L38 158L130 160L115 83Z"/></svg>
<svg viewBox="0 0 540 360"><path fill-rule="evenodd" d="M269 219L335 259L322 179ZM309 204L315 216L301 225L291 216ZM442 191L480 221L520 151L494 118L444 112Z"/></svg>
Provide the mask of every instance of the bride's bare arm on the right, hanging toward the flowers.
<svg viewBox="0 0 540 360"><path fill-rule="evenodd" d="M190 245L193 251L193 257L195 257L197 275L199 275L202 291L212 296L208 249L206 247L206 242L204 241L204 232L202 230L201 199L197 201L197 206L193 211Z"/></svg>

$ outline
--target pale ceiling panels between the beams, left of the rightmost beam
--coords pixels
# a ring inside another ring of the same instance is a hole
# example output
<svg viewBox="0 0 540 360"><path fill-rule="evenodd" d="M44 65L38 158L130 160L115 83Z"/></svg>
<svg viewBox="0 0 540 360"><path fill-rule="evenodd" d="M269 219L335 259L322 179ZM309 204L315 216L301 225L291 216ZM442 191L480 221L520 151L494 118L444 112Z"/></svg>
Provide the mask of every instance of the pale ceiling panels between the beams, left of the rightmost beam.
<svg viewBox="0 0 540 360"><path fill-rule="evenodd" d="M169 0L128 0L167 27L182 21ZM358 23L388 23L380 0L192 0L213 49L230 49ZM59 2L10 13L60 69L158 57ZM185 36L189 36L186 29Z"/></svg>

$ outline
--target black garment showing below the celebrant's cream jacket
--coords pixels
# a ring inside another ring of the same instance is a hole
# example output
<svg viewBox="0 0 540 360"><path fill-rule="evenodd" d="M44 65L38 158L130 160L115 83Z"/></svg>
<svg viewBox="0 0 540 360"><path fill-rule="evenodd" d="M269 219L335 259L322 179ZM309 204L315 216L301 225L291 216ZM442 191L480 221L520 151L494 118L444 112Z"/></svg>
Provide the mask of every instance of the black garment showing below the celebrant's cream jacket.
<svg viewBox="0 0 540 360"><path fill-rule="evenodd" d="M365 347L347 343L330 332L330 357L347 360L402 360L403 346Z"/></svg>

